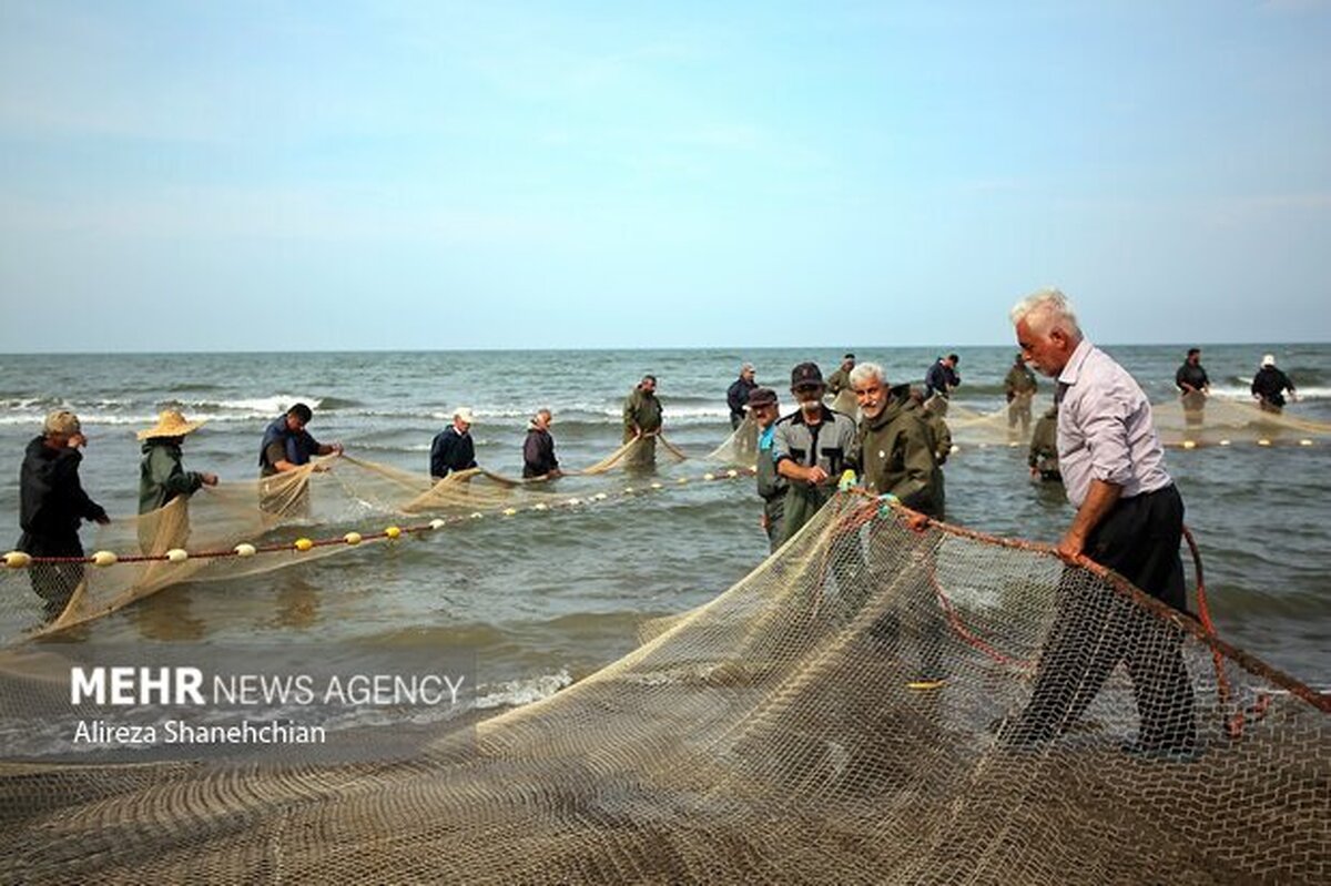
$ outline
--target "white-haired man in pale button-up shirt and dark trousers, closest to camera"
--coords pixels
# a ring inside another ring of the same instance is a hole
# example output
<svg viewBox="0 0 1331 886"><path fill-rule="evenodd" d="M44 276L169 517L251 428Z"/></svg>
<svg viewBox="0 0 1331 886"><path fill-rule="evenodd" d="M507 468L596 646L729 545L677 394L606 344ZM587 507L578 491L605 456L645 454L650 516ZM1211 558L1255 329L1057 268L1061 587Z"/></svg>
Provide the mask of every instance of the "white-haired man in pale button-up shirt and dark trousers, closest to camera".
<svg viewBox="0 0 1331 886"><path fill-rule="evenodd" d="M1141 386L1082 338L1057 289L1012 309L1022 355L1058 379L1058 463L1077 508L1058 543L1065 557L1086 556L1162 603L1186 611L1183 499L1165 471L1165 448ZM1119 661L1127 664L1139 716L1133 753L1197 749L1193 684L1175 625L1067 568L1054 623L1036 668L1030 701L1001 741L1033 746L1073 728Z"/></svg>

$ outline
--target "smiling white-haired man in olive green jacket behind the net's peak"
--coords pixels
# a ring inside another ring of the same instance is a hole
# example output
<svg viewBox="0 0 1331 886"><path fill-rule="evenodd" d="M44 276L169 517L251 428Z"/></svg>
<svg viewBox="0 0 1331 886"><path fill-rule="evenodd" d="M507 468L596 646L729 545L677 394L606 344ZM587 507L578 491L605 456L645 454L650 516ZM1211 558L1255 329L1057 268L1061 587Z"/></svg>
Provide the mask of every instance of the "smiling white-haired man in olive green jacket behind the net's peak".
<svg viewBox="0 0 1331 886"><path fill-rule="evenodd" d="M888 388L877 363L860 363L851 372L851 386L860 400L856 455L864 487L874 495L890 492L901 504L936 520L944 519L942 471L938 442L917 408L910 407L905 386Z"/></svg>

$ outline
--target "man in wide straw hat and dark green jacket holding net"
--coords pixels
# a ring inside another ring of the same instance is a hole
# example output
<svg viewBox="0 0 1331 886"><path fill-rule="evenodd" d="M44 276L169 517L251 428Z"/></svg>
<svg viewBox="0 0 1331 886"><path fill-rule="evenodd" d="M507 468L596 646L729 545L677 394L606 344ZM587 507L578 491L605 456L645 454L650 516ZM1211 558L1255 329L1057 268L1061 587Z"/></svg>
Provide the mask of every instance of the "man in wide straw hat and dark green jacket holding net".
<svg viewBox="0 0 1331 886"><path fill-rule="evenodd" d="M172 515L154 512L177 498L193 495L201 486L217 486L216 474L186 471L181 466L185 435L202 424L202 420L186 422L176 410L164 410L157 424L138 432L144 442L144 460L138 464L138 543L144 553L164 553L182 545L189 536L184 502Z"/></svg>

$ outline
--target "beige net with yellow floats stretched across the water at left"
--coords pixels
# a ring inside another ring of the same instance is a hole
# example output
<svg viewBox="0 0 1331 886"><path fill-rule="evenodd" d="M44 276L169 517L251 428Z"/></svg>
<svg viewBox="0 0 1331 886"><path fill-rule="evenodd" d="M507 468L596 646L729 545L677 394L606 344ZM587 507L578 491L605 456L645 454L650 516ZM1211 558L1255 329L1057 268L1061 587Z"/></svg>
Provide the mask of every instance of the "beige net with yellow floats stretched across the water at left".
<svg viewBox="0 0 1331 886"><path fill-rule="evenodd" d="M753 447L745 450L744 439L736 432L727 444L703 458L736 466L747 459L752 466ZM596 478L642 466L648 446L666 463L689 458L663 436L652 443L635 439L582 471L568 471L567 476ZM314 535L318 528L381 528L385 523L405 527L411 521L429 528L419 521L431 516L457 520L510 510L554 508L579 502L580 495L595 495L596 488L584 486L579 492L567 484L506 478L483 468L431 480L350 456L315 459L297 471L260 480L204 487L150 514L117 516L110 524L97 527L91 549L116 553L118 561L113 568L97 568L77 559L39 561L25 568L32 593L15 589L0 596L0 645L67 631L182 581L257 575L345 549L342 544L315 544L298 556L291 552L293 541ZM602 488L608 487L602 484ZM253 544L264 556L238 553L237 545L244 544ZM188 552L188 559L164 560L173 549Z"/></svg>

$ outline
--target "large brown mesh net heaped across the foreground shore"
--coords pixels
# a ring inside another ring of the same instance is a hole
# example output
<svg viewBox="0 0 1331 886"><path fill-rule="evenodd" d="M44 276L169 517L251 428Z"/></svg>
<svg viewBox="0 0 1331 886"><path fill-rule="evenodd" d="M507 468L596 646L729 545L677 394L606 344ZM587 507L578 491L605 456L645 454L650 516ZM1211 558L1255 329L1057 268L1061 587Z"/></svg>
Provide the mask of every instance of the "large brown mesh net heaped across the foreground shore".
<svg viewBox="0 0 1331 886"><path fill-rule="evenodd" d="M0 879L1331 877L1327 700L1049 552L840 495L660 628L467 740L441 726L406 762L11 762ZM1141 677L1143 661L1175 660L1182 690L1153 704L1191 717L1195 741L1126 752L1138 714L1123 663ZM1102 686L1085 676L1097 666ZM1044 741L1013 729L1037 680L1085 701Z"/></svg>

